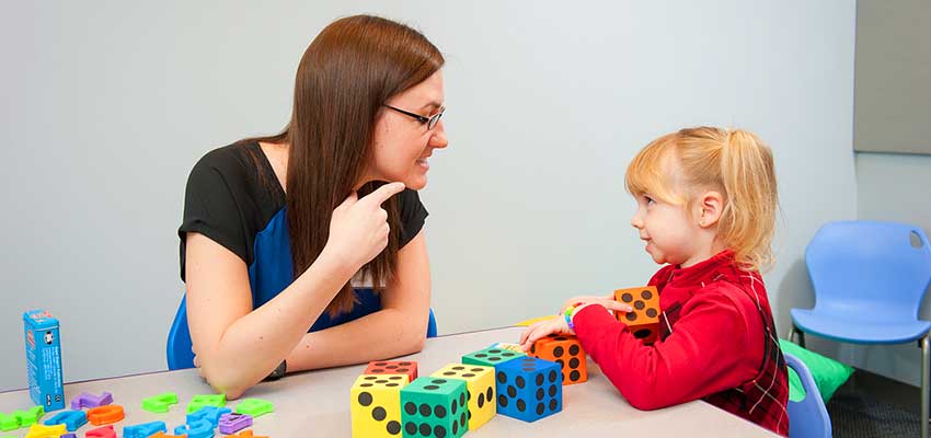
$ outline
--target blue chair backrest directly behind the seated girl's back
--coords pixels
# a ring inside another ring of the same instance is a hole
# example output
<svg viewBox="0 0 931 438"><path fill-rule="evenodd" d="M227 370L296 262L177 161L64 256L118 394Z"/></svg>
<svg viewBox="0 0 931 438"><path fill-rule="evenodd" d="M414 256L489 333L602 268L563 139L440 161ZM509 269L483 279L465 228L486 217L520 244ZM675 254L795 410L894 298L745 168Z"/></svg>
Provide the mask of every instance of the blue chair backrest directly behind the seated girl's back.
<svg viewBox="0 0 931 438"><path fill-rule="evenodd" d="M788 353L785 364L795 370L805 389L805 399L793 402L789 401L789 438L830 438L831 420L825 402L812 378L812 372L798 358Z"/></svg>

